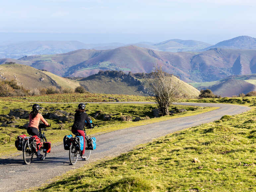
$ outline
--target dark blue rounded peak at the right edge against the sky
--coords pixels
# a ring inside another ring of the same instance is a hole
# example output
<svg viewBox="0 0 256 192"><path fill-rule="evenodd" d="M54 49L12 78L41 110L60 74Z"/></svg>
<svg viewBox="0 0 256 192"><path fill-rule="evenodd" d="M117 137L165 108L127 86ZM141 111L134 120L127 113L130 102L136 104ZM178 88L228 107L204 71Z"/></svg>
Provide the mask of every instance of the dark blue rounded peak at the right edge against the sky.
<svg viewBox="0 0 256 192"><path fill-rule="evenodd" d="M232 39L221 41L213 46L207 47L203 50L212 48L223 49L253 49L256 50L256 38L250 36L238 36Z"/></svg>

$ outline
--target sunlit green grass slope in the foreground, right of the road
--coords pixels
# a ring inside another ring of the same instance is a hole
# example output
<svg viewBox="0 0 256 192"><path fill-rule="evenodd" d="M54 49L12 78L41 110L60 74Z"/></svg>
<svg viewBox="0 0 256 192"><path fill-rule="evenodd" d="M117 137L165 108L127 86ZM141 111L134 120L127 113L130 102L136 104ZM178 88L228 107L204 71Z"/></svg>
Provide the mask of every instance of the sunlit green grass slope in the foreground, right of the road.
<svg viewBox="0 0 256 192"><path fill-rule="evenodd" d="M166 135L33 191L255 191L255 113Z"/></svg>

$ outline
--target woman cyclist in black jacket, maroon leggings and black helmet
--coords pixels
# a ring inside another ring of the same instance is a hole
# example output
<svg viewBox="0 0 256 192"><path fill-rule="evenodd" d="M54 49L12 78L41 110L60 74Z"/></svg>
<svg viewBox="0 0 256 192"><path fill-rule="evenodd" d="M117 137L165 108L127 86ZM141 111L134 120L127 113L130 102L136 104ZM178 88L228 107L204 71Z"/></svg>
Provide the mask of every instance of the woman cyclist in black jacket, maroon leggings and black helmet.
<svg viewBox="0 0 256 192"><path fill-rule="evenodd" d="M78 105L78 109L76 109L75 113L75 121L74 124L72 125L71 132L73 134L79 134L79 136L83 136L84 138L84 150L82 152L81 158L85 159L85 132L84 132L84 127L85 127L85 120L88 122L89 127L92 128L92 125L90 123L91 119L88 117L87 113L85 112L85 104L80 103Z"/></svg>

